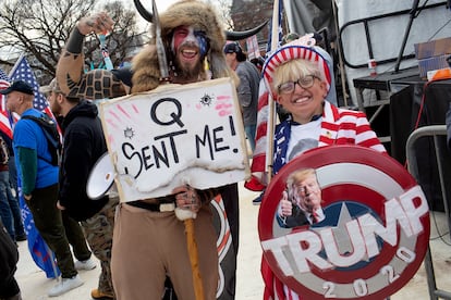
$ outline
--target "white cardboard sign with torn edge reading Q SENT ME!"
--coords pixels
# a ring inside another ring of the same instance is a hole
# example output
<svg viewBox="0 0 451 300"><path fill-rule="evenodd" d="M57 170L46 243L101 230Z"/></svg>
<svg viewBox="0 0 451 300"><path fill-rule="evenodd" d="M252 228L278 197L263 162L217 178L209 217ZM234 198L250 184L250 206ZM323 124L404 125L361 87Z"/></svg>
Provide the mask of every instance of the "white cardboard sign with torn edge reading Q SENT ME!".
<svg viewBox="0 0 451 300"><path fill-rule="evenodd" d="M207 189L249 176L243 121L230 78L166 85L100 104L121 201Z"/></svg>

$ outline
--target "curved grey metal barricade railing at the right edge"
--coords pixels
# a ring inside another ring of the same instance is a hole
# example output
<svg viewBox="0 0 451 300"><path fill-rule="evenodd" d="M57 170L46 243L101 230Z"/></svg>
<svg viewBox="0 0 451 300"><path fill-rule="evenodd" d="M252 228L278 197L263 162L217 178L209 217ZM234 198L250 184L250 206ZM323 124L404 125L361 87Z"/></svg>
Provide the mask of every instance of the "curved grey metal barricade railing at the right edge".
<svg viewBox="0 0 451 300"><path fill-rule="evenodd" d="M415 129L407 139L405 145L405 154L407 159L407 167L409 172L412 176L418 180L418 164L415 153L415 142L422 137L434 137L434 148L436 151L436 159L437 159L437 168L440 178L440 189L443 199L443 207L444 207L444 215L448 218L448 227L451 228L450 222L450 214L449 214L449 207L448 207L448 199L444 187L444 176L443 176L443 165L440 160L442 158L442 149L439 147L439 136L447 136L447 126L446 125L429 125L424 126ZM430 245L429 245L430 246ZM430 299L437 300L441 299L451 299L451 292L441 290L437 288L436 276L434 273L434 263L432 263L432 255L430 253L430 247L428 247L425 255L425 270L427 275L427 285L429 288L429 297Z"/></svg>

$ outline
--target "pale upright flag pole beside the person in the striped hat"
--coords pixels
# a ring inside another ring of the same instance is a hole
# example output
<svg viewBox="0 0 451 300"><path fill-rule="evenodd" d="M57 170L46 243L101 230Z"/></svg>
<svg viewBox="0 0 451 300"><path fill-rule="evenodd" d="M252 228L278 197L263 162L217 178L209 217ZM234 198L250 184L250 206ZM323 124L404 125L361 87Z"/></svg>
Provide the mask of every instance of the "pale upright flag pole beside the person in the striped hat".
<svg viewBox="0 0 451 300"><path fill-rule="evenodd" d="M275 0L272 8L272 25L271 25L271 49L270 51L276 51L279 42L279 1ZM273 154L273 136L275 136L275 126L276 126L276 102L272 99L272 92L270 87L268 87L268 127L267 127L267 150L266 150L266 176L267 184L271 182L272 177L272 154Z"/></svg>

